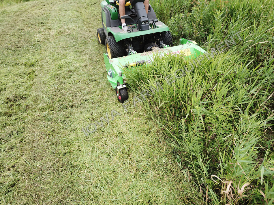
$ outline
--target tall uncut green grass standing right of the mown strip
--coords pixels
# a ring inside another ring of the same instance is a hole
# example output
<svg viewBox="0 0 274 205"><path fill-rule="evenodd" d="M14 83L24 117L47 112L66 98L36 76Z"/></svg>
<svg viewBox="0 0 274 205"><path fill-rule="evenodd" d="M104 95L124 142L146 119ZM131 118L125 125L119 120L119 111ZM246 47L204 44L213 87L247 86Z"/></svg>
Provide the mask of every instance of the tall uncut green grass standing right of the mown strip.
<svg viewBox="0 0 274 205"><path fill-rule="evenodd" d="M161 82L158 95L145 101L147 110L207 204L272 204L273 3L222 4L208 3L220 9L212 13L204 48L240 30L242 40L191 72L182 56L155 56L152 64L125 71L127 81L136 95ZM179 68L185 76L168 85L164 77Z"/></svg>

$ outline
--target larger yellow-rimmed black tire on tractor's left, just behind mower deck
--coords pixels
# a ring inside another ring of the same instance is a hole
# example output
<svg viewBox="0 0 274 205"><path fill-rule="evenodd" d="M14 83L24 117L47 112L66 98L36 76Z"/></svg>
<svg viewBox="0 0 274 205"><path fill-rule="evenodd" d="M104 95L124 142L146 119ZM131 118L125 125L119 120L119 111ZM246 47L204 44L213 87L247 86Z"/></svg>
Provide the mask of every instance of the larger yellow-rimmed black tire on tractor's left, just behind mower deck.
<svg viewBox="0 0 274 205"><path fill-rule="evenodd" d="M120 42L116 42L114 36L106 38L106 52L109 59L124 56L123 45Z"/></svg>

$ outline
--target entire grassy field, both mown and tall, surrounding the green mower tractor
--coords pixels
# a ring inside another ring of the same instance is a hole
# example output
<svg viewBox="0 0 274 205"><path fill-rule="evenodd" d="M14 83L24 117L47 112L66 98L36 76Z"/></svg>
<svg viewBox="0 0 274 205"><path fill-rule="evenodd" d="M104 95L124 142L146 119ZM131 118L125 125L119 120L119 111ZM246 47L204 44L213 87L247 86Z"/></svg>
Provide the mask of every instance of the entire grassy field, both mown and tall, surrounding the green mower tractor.
<svg viewBox="0 0 274 205"><path fill-rule="evenodd" d="M274 3L150 3L175 45L235 43L193 70L166 55L128 72L130 100L163 90L125 112L97 43L100 1L0 1L0 204L273 204Z"/></svg>

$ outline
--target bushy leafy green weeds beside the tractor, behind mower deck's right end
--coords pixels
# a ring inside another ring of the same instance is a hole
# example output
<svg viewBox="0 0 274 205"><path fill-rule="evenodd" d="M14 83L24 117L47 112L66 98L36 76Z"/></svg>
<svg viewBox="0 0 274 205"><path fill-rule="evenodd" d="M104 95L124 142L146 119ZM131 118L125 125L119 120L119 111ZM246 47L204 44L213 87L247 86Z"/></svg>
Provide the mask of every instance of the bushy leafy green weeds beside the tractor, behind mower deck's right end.
<svg viewBox="0 0 274 205"><path fill-rule="evenodd" d="M175 44L179 44L181 37L205 43L207 35L212 32L211 5L206 0L153 0L151 5L157 18L169 26Z"/></svg>

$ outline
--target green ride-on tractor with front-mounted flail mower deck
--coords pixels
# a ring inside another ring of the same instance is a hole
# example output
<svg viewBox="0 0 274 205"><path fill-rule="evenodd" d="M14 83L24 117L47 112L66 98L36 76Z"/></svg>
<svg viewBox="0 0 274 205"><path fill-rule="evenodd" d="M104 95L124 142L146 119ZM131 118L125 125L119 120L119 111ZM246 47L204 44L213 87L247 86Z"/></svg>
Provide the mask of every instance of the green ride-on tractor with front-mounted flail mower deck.
<svg viewBox="0 0 274 205"><path fill-rule="evenodd" d="M121 103L128 99L123 67L150 63L155 52L183 53L188 58L204 53L195 42L185 39L180 39L182 45L172 47L168 26L156 18L151 5L147 13L143 2L126 2L124 16L119 15L117 1L101 2L103 27L97 29L97 37L98 42L106 46L104 61L107 78ZM125 19L127 32L122 30L121 19Z"/></svg>

